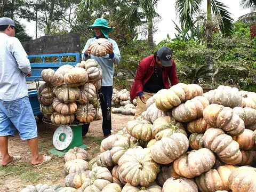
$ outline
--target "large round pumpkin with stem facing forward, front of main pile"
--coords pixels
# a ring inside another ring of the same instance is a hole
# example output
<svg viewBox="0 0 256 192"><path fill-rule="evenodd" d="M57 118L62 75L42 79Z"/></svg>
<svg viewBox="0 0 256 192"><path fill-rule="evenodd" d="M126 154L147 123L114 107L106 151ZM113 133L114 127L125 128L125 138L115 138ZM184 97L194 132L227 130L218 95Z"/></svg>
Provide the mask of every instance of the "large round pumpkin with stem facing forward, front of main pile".
<svg viewBox="0 0 256 192"><path fill-rule="evenodd" d="M132 186L148 186L160 171L160 166L151 158L150 150L142 147L127 150L118 165L121 177Z"/></svg>

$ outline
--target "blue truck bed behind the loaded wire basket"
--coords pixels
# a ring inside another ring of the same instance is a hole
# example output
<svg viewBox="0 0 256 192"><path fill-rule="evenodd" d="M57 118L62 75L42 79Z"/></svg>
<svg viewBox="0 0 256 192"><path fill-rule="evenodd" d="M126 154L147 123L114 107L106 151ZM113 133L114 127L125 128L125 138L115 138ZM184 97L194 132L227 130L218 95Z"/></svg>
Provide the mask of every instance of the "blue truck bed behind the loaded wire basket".
<svg viewBox="0 0 256 192"><path fill-rule="evenodd" d="M61 62L62 57L73 56L76 57L76 61L74 62ZM58 57L58 62L45 62L46 57ZM33 82L35 79L41 77L41 72L43 69L51 68L53 70L57 70L62 65L71 65L75 66L80 62L80 54L79 53L60 53L60 54L42 54L42 55L28 55L28 58L41 58L42 62L31 62L31 71L32 75L30 77L26 77L27 82ZM33 109L33 113L35 116L42 115L40 111L40 103L37 99L37 90L28 90L28 97Z"/></svg>

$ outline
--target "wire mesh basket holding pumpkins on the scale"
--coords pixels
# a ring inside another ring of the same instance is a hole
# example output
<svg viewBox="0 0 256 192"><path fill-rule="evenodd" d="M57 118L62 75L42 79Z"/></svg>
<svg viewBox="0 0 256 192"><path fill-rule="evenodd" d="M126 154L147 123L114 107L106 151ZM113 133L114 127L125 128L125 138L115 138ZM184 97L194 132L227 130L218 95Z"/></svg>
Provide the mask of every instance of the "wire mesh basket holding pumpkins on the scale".
<svg viewBox="0 0 256 192"><path fill-rule="evenodd" d="M102 77L90 81L56 83L35 79L43 122L77 126L99 118Z"/></svg>

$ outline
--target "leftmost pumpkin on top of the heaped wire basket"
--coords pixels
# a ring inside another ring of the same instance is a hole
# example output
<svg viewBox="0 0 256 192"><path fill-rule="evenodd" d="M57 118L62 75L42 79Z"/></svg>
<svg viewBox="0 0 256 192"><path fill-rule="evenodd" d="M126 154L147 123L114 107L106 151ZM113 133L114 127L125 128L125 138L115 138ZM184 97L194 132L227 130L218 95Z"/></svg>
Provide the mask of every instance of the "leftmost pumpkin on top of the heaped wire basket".
<svg viewBox="0 0 256 192"><path fill-rule="evenodd" d="M61 86L63 83L63 75L55 72L53 69L43 69L41 77L46 83L49 83L52 86Z"/></svg>

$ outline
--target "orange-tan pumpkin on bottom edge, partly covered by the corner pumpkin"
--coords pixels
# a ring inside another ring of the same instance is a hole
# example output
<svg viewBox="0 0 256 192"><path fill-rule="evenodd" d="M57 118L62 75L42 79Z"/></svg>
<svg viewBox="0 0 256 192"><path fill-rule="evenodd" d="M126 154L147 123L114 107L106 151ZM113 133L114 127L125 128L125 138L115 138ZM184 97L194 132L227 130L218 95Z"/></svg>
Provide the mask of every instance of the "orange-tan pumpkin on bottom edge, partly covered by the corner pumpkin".
<svg viewBox="0 0 256 192"><path fill-rule="evenodd" d="M199 191L215 192L217 190L230 190L228 187L228 178L236 168L234 165L226 164L196 177L195 181Z"/></svg>

